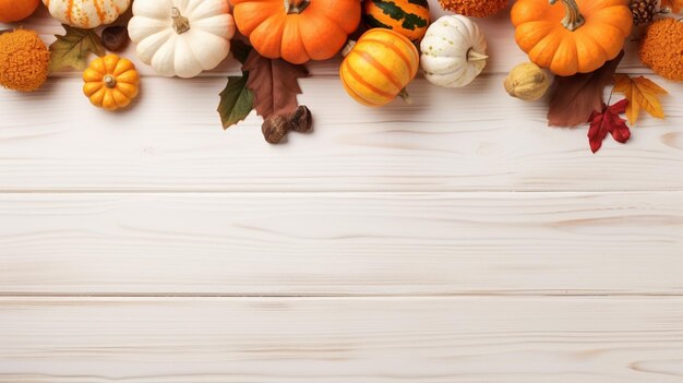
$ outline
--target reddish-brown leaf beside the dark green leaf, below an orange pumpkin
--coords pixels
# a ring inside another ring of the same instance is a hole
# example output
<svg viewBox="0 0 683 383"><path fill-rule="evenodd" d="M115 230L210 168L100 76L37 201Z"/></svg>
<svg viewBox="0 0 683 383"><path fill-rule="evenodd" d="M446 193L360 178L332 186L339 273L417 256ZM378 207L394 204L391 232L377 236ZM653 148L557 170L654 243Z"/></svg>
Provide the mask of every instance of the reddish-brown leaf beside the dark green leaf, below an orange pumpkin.
<svg viewBox="0 0 683 383"><path fill-rule="evenodd" d="M263 118L297 109L297 95L301 94L298 80L308 75L305 67L266 59L252 49L242 70L249 72L247 87L254 93L254 108Z"/></svg>

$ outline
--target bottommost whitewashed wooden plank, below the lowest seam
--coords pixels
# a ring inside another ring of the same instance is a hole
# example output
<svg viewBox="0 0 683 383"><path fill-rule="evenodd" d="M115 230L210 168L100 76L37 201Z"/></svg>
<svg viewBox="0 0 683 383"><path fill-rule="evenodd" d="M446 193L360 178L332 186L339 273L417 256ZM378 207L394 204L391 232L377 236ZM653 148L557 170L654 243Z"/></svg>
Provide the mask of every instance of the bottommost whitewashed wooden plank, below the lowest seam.
<svg viewBox="0 0 683 383"><path fill-rule="evenodd" d="M3 383L680 383L682 298L0 299Z"/></svg>

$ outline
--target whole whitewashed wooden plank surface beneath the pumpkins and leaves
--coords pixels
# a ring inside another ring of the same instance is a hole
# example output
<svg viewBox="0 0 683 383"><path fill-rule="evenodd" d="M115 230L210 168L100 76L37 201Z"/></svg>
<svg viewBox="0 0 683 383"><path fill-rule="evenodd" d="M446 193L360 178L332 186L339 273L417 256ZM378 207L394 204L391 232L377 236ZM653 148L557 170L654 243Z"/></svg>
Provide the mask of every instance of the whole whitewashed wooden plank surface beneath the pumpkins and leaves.
<svg viewBox="0 0 683 383"><path fill-rule="evenodd" d="M478 23L484 74L410 106L312 63L315 132L278 146L220 129L231 59L140 64L116 115L75 72L0 91L0 382L683 382L683 85L631 44L668 119L592 155L504 93L507 16Z"/></svg>

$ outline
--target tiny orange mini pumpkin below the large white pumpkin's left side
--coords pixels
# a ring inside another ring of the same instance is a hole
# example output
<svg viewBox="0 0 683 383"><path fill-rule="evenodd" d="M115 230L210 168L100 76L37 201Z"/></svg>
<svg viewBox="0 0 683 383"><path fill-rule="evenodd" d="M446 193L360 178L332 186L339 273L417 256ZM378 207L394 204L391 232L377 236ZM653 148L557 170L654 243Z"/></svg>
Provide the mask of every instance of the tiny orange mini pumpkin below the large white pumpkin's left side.
<svg viewBox="0 0 683 383"><path fill-rule="evenodd" d="M135 65L116 55L93 60L83 72L83 93L94 106L106 110L125 108L140 91Z"/></svg>

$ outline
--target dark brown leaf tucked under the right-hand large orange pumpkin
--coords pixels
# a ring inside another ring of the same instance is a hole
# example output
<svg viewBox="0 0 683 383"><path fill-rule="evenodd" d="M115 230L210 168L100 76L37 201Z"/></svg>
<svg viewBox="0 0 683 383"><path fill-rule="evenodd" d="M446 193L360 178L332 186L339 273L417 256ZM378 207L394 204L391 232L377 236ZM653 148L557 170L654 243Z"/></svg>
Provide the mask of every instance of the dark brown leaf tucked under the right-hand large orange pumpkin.
<svg viewBox="0 0 683 383"><path fill-rule="evenodd" d="M614 71L623 57L622 50L615 59L594 72L567 77L556 76L556 87L548 110L548 124L576 127L585 123L594 110L602 107L602 92L612 82Z"/></svg>

